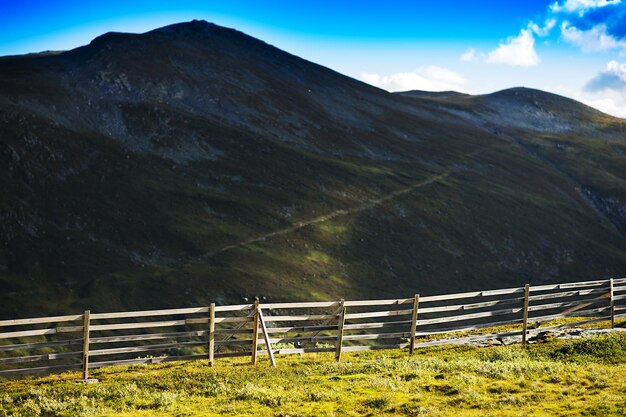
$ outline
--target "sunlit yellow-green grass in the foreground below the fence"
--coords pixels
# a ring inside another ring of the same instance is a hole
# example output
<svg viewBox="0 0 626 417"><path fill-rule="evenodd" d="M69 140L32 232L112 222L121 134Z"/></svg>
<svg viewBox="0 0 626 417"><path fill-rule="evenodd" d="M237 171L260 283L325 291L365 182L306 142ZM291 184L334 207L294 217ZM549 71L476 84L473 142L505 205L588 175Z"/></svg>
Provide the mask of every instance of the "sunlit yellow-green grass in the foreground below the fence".
<svg viewBox="0 0 626 417"><path fill-rule="evenodd" d="M0 381L0 416L626 415L626 336L107 368Z"/></svg>

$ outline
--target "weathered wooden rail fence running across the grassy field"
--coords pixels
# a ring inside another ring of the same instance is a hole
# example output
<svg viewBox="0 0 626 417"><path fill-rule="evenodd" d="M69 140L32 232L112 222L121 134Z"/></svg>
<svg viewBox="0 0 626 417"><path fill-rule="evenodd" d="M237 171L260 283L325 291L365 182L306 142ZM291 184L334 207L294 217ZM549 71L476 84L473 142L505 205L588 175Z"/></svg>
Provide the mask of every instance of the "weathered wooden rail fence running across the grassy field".
<svg viewBox="0 0 626 417"><path fill-rule="evenodd" d="M112 365L404 349L626 317L626 278L391 300L267 303L0 321L0 376ZM575 318L550 325L555 319ZM501 326L507 329L497 333ZM546 327L548 326L548 327ZM480 330L480 332L475 332ZM489 332L491 330L491 332ZM459 332L462 332L460 335ZM485 334L487 332L487 334ZM456 335L455 335L456 333ZM520 337L521 336L521 337ZM153 356L154 355L154 356Z"/></svg>

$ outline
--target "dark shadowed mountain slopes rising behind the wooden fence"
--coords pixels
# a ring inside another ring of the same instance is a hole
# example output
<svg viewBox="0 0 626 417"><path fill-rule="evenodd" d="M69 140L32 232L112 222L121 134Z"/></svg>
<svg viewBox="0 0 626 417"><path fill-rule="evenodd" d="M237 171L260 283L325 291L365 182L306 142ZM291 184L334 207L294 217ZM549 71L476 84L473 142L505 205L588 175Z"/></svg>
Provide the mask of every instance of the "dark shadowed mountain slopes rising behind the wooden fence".
<svg viewBox="0 0 626 417"><path fill-rule="evenodd" d="M626 271L626 124L390 94L190 22L0 59L1 316Z"/></svg>

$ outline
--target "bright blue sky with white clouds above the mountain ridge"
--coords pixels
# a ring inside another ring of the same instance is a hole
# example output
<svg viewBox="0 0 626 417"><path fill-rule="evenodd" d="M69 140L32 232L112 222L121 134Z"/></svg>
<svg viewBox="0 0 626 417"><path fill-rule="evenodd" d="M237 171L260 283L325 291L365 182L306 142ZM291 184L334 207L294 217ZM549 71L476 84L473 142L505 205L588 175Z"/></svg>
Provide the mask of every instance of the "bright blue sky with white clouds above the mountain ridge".
<svg viewBox="0 0 626 417"><path fill-rule="evenodd" d="M528 86L626 117L620 0L0 0L0 55L70 49L108 31L192 19L390 91Z"/></svg>

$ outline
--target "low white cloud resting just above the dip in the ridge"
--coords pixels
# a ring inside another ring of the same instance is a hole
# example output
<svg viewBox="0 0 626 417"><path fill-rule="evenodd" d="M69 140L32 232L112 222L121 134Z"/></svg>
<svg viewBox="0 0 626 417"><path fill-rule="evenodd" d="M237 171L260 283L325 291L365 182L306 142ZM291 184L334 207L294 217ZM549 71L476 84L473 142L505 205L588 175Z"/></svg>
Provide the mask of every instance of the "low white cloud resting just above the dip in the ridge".
<svg viewBox="0 0 626 417"><path fill-rule="evenodd" d="M361 73L361 79L368 84L388 91L447 91L459 90L467 82L458 73L434 65L418 68L413 72L398 72L391 75Z"/></svg>

